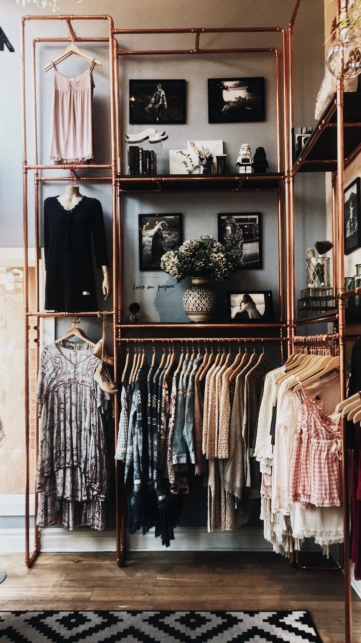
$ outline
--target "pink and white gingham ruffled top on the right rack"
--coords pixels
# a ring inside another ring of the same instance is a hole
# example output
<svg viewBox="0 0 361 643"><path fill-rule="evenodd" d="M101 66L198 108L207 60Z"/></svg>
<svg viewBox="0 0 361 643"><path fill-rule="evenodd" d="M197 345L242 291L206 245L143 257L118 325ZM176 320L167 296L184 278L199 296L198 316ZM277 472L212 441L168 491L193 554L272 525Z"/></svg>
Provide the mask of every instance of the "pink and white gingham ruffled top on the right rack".
<svg viewBox="0 0 361 643"><path fill-rule="evenodd" d="M326 415L304 388L292 452L290 503L306 507L342 504L340 414Z"/></svg>

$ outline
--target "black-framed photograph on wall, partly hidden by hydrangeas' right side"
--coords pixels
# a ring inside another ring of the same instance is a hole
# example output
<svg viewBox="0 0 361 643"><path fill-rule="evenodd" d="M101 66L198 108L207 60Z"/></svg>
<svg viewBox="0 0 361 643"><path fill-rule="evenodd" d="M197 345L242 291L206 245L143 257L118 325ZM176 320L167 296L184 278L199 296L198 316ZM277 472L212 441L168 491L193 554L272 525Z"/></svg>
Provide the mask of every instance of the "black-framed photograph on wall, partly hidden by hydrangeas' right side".
<svg viewBox="0 0 361 643"><path fill-rule="evenodd" d="M240 269L261 268L261 212L218 213L218 241L238 258Z"/></svg>

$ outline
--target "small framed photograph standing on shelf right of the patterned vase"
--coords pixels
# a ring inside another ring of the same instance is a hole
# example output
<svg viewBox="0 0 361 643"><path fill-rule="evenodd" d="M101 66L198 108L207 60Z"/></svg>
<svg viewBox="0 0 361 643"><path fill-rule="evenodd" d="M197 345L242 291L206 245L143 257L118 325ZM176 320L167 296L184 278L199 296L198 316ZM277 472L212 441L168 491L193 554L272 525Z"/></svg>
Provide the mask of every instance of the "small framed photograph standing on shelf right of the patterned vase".
<svg viewBox="0 0 361 643"><path fill-rule="evenodd" d="M272 290L228 293L228 315L235 323L273 321Z"/></svg>

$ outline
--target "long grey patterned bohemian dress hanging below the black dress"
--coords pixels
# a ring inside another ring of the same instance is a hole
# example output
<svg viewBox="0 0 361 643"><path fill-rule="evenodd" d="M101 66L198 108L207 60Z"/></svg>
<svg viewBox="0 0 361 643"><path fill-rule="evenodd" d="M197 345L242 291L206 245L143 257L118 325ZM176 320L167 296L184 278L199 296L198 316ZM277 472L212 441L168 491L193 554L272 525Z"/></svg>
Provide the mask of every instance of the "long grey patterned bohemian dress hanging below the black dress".
<svg viewBox="0 0 361 643"><path fill-rule="evenodd" d="M39 527L106 527L105 422L112 406L94 381L100 361L92 350L87 342L63 340L46 346L40 357Z"/></svg>

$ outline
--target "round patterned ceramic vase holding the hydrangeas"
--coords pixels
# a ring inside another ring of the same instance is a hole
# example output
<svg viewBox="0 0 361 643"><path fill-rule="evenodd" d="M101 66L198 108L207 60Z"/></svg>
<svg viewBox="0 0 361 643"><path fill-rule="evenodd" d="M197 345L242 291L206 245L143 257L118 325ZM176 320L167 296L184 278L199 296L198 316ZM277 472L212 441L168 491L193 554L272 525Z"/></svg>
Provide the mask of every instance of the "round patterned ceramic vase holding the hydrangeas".
<svg viewBox="0 0 361 643"><path fill-rule="evenodd" d="M216 296L207 277L192 277L192 285L183 295L183 305L189 320L195 323L209 321L216 310Z"/></svg>

